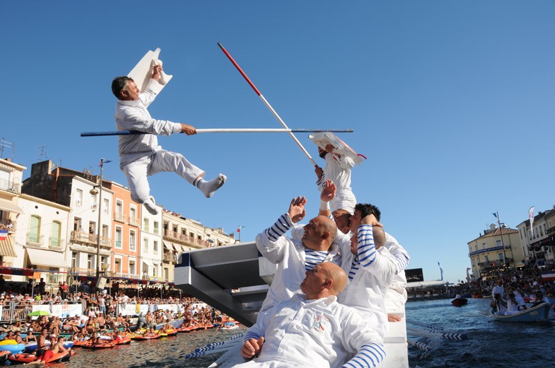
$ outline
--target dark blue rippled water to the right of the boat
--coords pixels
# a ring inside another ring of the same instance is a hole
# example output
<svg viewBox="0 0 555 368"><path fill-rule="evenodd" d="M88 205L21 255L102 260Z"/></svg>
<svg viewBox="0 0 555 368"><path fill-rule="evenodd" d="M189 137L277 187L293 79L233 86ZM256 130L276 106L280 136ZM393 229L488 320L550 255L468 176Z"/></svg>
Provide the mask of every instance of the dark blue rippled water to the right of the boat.
<svg viewBox="0 0 555 368"><path fill-rule="evenodd" d="M499 322L489 317L489 302L490 299L468 299L468 305L462 307L452 306L447 299L407 303L408 319L468 335L468 340L463 341L418 339L430 342L434 349L426 358L420 358L422 351L409 347L409 365L422 368L555 366L553 312L549 312L549 322L539 324Z"/></svg>

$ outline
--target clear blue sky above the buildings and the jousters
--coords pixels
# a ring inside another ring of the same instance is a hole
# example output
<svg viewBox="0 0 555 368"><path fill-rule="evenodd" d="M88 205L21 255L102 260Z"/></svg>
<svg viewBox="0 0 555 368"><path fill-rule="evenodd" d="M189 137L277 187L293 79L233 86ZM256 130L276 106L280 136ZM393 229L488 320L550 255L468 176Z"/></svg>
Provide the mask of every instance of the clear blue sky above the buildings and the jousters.
<svg viewBox="0 0 555 368"><path fill-rule="evenodd" d="M495 222L511 227L532 205L555 204L555 4L552 1L10 1L3 3L3 157L28 167L40 149L81 170L112 159L126 183L114 129L114 76L162 49L173 80L155 119L196 128L280 128L225 58L237 60L290 128L341 134L368 160L352 173L359 202L382 222L425 279L456 282L468 243ZM307 134L301 143L316 155ZM173 174L151 177L157 203L254 240L305 195L316 175L287 134L160 138L207 171L228 175L207 200ZM44 158L43 157L43 158Z"/></svg>

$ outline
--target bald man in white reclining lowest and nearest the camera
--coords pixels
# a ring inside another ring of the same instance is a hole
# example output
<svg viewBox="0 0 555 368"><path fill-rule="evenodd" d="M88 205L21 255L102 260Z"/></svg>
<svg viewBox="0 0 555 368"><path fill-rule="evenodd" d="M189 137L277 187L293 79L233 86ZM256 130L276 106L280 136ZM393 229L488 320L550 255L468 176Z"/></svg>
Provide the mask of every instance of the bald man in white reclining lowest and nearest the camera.
<svg viewBox="0 0 555 368"><path fill-rule="evenodd" d="M347 275L334 263L306 272L302 294L273 307L245 334L236 367L375 367L385 357L379 335L354 308L338 304ZM349 360L349 357L354 355Z"/></svg>

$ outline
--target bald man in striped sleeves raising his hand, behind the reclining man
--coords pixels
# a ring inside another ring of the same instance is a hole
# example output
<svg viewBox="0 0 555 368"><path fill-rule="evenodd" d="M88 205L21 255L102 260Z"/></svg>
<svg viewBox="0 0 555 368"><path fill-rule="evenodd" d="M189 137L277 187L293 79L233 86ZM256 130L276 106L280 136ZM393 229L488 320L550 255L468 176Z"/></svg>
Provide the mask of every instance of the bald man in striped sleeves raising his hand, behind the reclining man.
<svg viewBox="0 0 555 368"><path fill-rule="evenodd" d="M259 316L280 301L300 292L299 285L305 272L314 265L339 259L337 247L332 246L337 235L334 221L325 216L316 216L303 228L300 239L285 236L297 222L305 217L304 197L293 198L289 210L271 227L256 237L259 252L271 263L277 265L272 284L264 299Z"/></svg>

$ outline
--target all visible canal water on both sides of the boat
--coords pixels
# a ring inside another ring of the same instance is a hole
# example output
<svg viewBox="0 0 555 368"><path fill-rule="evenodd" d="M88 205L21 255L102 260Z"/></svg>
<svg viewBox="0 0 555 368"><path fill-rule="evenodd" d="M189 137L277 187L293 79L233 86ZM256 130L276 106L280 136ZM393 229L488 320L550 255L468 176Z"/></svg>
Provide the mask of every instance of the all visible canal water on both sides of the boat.
<svg viewBox="0 0 555 368"><path fill-rule="evenodd" d="M407 303L407 319L443 326L445 332L463 333L468 340L416 338L432 351L409 347L410 367L555 367L555 324L515 324L488 317L489 299L469 299L457 308L448 299ZM407 326L422 328L410 323ZM227 340L244 328L232 331L194 331L175 338L163 338L130 345L89 351L77 349L70 362L53 367L207 367L218 355L185 360L187 353L211 342Z"/></svg>

